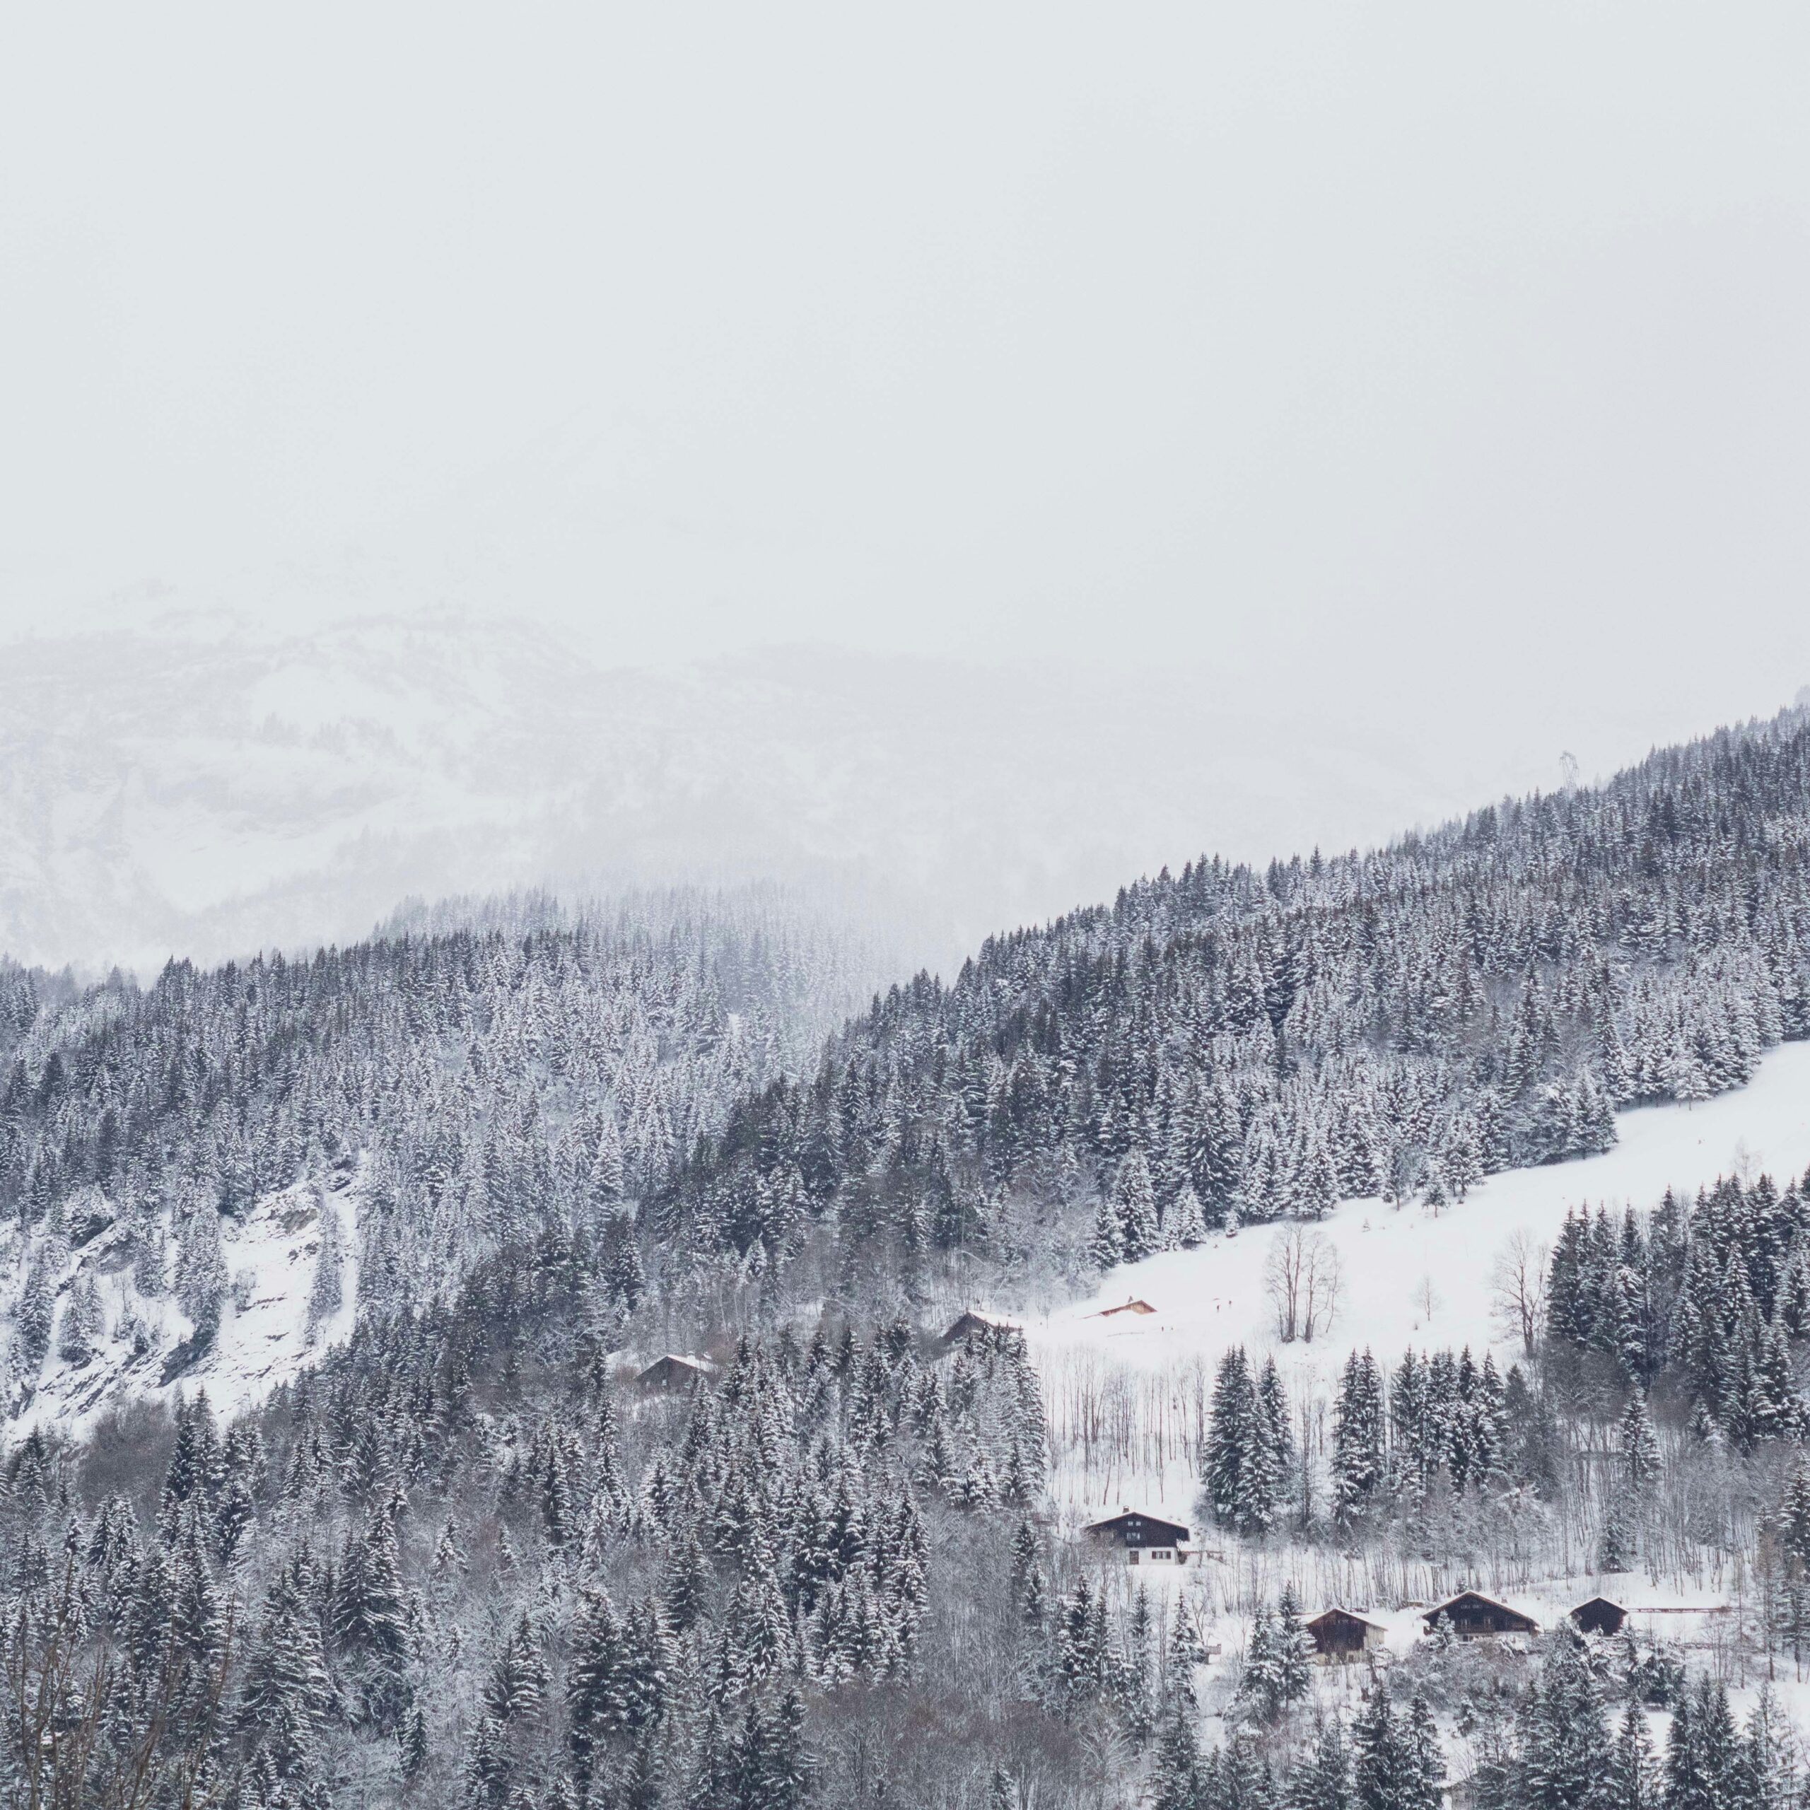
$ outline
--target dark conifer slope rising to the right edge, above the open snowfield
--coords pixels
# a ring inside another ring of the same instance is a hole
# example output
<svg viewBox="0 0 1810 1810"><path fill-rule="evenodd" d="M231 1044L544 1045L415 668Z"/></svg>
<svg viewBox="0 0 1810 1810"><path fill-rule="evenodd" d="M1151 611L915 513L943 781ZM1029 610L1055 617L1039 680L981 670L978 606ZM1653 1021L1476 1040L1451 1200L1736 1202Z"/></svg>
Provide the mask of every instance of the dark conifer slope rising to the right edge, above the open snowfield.
<svg viewBox="0 0 1810 1810"><path fill-rule="evenodd" d="M802 1205L907 1267L956 1245L1110 1263L1202 1220L1462 1198L1805 1035L1790 711L1370 854L1204 858L994 938L742 1106L662 1211L702 1251L778 1253Z"/></svg>

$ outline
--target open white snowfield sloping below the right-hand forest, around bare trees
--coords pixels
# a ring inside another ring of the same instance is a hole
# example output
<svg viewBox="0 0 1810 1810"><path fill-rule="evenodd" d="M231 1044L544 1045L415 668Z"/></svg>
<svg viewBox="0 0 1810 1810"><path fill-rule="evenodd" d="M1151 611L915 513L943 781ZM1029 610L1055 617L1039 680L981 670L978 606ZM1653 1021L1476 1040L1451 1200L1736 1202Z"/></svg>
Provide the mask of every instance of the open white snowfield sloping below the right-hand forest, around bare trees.
<svg viewBox="0 0 1810 1810"><path fill-rule="evenodd" d="M1193 1251L1167 1251L1113 1269L1086 1301L1048 1314L1014 1316L1024 1325L1052 1401L1052 1421L1091 1414L1095 1396L1117 1396L1137 1421L1138 1453L1119 1466L1064 1466L1057 1493L1072 1515L1119 1508L1128 1493L1155 1511L1187 1520L1195 1504L1191 1464L1158 1423L1193 1412L1202 1385L1233 1345L1274 1356L1291 1399L1327 1397L1347 1356L1370 1347L1396 1365L1408 1348L1464 1347L1497 1363L1520 1356L1519 1330L1495 1305L1491 1272L1515 1234L1540 1256L1569 1209L1624 1205L1645 1211L1667 1187L1696 1195L1725 1175L1770 1175L1781 1187L1810 1169L1810 1043L1781 1044L1738 1091L1692 1106L1647 1106L1616 1119L1620 1140L1602 1157L1513 1169L1490 1176L1437 1213L1352 1200L1310 1227L1245 1225ZM1339 1298L1330 1327L1303 1343L1278 1338L1263 1271L1274 1240L1319 1233L1338 1254ZM1108 1312L1142 1301L1149 1314ZM1428 1310L1430 1307L1430 1310ZM1077 1408L1077 1403L1086 1406ZM1111 1430L1102 1432L1110 1443Z"/></svg>

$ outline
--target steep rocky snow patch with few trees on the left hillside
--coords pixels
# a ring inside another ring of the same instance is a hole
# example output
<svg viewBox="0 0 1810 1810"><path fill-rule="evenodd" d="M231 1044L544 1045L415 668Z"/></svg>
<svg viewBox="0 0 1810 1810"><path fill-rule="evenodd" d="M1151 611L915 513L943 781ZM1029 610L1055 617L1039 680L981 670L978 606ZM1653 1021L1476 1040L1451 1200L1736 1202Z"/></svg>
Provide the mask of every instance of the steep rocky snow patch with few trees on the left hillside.
<svg viewBox="0 0 1810 1810"><path fill-rule="evenodd" d="M147 1298L132 1280L125 1227L112 1220L80 1242L56 1289L51 1350L27 1399L14 1394L14 1412L0 1430L16 1439L31 1426L58 1426L81 1435L109 1408L143 1397L174 1401L206 1390L223 1419L252 1406L295 1377L324 1352L351 1338L358 1296L358 1209L362 1175L264 1195L246 1215L221 1215L221 1245L232 1281L214 1341L195 1354L194 1323L170 1294ZM344 1262L337 1310L310 1323L310 1298L319 1269L322 1215L338 1218ZM33 1242L42 1247L42 1234ZM36 1249L14 1249L0 1267L0 1327L13 1332L20 1291ZM72 1291L92 1278L100 1291L101 1330L94 1350L71 1363L62 1350L63 1318ZM14 1390L18 1383L14 1381Z"/></svg>

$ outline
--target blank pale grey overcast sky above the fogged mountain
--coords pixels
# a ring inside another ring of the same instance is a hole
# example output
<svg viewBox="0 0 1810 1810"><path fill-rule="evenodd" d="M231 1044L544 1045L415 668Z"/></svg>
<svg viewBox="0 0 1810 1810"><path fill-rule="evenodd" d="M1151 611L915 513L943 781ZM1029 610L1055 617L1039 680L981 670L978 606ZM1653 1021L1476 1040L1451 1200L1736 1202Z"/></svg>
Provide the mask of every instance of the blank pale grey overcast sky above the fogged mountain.
<svg viewBox="0 0 1810 1810"><path fill-rule="evenodd" d="M1801 4L14 7L0 623L1634 753L1810 681L1806 92Z"/></svg>

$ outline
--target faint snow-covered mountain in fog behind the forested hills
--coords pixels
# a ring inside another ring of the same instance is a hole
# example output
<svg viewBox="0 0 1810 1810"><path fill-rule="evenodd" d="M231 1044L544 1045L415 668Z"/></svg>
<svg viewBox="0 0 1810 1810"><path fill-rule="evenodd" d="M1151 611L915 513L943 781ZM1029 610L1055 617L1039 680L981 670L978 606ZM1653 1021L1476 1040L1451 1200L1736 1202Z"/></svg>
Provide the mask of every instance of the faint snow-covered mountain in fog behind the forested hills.
<svg viewBox="0 0 1810 1810"><path fill-rule="evenodd" d="M411 894L757 876L943 961L1202 847L1343 847L1528 778L1381 724L1281 735L1184 673L610 668L452 619L42 637L0 695L0 950L87 968L346 941Z"/></svg>

